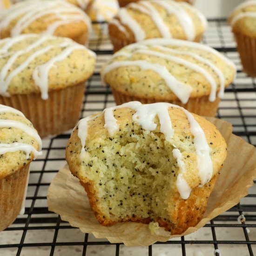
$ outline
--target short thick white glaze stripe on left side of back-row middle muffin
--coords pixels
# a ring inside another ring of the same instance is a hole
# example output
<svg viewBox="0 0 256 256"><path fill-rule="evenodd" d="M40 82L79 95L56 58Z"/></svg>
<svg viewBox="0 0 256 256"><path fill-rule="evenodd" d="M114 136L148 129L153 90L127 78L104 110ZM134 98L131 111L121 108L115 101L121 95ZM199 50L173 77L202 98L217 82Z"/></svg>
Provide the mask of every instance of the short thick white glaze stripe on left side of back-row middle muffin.
<svg viewBox="0 0 256 256"><path fill-rule="evenodd" d="M139 23L127 12L125 8L121 8L117 17L121 20L121 23L128 26L133 32L135 40L140 42L145 39L145 31L141 28Z"/></svg>

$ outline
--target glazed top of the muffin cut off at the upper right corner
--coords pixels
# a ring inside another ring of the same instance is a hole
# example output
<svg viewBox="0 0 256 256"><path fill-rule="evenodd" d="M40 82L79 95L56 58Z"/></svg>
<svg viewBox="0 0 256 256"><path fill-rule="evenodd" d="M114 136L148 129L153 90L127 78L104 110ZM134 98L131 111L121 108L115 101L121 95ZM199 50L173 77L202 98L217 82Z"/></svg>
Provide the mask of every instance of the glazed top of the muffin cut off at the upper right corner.
<svg viewBox="0 0 256 256"><path fill-rule="evenodd" d="M236 33L256 37L256 0L245 1L229 16L229 24Z"/></svg>

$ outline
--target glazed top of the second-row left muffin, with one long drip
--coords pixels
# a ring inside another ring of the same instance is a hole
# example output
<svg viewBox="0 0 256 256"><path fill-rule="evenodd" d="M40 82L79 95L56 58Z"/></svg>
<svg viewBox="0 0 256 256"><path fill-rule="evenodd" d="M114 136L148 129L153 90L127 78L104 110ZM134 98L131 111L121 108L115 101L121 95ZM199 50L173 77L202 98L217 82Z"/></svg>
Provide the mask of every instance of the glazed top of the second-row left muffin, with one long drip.
<svg viewBox="0 0 256 256"><path fill-rule="evenodd" d="M0 94L40 93L86 81L96 55L63 37L23 34L0 40Z"/></svg>

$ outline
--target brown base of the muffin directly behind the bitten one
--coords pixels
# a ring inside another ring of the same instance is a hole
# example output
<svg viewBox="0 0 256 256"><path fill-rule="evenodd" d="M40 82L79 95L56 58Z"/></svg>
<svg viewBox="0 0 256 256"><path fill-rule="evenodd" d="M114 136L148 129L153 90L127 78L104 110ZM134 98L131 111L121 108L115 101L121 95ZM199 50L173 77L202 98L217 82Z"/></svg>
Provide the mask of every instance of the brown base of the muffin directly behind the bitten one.
<svg viewBox="0 0 256 256"><path fill-rule="evenodd" d="M112 88L112 94L114 95L116 105L121 105L129 101L140 101L143 104L156 103L156 102L162 101L157 99L147 99L147 98L140 98L136 96L130 96L127 94L120 93L113 88ZM213 102L209 101L209 96L202 96L201 98L190 98L186 104L183 104L180 100L165 101L165 102L179 105L187 109L189 112L192 112L196 115L214 117L218 110L220 98L216 97L216 100Z"/></svg>

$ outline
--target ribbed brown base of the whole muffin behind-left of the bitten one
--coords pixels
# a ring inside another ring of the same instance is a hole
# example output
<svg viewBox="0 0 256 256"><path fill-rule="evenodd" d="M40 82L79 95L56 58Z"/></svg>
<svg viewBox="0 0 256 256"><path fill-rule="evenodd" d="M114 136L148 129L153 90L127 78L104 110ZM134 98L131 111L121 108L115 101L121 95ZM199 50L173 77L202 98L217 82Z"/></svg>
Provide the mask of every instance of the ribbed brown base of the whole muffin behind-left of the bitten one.
<svg viewBox="0 0 256 256"><path fill-rule="evenodd" d="M0 96L0 104L20 110L41 137L61 134L75 126L80 117L85 83L49 92L47 100L41 94Z"/></svg>

